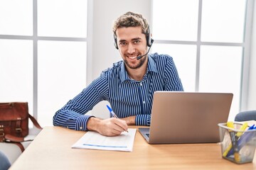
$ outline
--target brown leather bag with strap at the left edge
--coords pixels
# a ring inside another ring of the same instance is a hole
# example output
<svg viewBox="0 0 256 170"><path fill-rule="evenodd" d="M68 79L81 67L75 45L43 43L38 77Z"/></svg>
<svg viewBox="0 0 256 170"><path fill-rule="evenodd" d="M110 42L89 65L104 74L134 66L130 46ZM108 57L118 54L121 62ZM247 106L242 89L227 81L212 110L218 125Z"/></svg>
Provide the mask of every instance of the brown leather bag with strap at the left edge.
<svg viewBox="0 0 256 170"><path fill-rule="evenodd" d="M28 118L36 128L42 129L36 119L28 113L27 102L0 103L0 142L21 145L20 142L26 141L24 137L28 135Z"/></svg>

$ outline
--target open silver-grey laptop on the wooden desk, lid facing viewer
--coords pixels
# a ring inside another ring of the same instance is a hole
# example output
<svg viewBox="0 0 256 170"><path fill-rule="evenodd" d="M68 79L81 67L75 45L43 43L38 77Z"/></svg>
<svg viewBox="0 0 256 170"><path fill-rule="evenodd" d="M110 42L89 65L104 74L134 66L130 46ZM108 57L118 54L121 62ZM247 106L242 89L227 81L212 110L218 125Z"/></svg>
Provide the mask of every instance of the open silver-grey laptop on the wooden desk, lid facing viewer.
<svg viewBox="0 0 256 170"><path fill-rule="evenodd" d="M156 91L150 128L139 128L149 144L220 142L218 123L228 121L233 94Z"/></svg>

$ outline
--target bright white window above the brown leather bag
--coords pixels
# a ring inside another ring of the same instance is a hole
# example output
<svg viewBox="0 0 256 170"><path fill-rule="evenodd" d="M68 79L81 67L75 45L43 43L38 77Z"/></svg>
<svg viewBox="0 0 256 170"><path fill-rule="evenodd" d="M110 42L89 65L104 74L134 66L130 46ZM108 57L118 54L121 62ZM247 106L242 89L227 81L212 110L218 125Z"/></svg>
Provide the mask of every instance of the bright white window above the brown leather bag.
<svg viewBox="0 0 256 170"><path fill-rule="evenodd" d="M87 1L0 2L0 102L27 101L42 125L86 86Z"/></svg>

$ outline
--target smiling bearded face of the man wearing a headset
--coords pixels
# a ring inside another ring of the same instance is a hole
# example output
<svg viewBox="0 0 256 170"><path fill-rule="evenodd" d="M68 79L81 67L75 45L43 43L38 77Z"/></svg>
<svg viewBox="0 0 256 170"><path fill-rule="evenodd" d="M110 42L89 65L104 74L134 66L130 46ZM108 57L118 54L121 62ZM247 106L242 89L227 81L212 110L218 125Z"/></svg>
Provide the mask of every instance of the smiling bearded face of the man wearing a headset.
<svg viewBox="0 0 256 170"><path fill-rule="evenodd" d="M146 56L137 60L139 55L146 54L146 36L142 33L142 28L128 27L117 28L117 45L127 67L137 69L144 64Z"/></svg>

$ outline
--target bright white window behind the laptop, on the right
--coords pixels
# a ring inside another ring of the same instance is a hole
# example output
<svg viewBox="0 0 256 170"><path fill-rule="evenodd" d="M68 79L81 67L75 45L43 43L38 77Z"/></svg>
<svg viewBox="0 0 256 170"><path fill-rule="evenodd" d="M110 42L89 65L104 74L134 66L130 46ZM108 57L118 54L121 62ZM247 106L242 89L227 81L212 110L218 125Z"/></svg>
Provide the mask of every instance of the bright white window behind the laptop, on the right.
<svg viewBox="0 0 256 170"><path fill-rule="evenodd" d="M229 120L242 104L252 1L153 0L153 51L174 58L185 91L233 93ZM161 19L160 19L161 18Z"/></svg>

